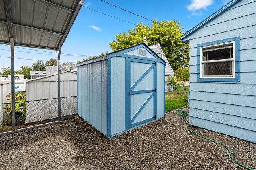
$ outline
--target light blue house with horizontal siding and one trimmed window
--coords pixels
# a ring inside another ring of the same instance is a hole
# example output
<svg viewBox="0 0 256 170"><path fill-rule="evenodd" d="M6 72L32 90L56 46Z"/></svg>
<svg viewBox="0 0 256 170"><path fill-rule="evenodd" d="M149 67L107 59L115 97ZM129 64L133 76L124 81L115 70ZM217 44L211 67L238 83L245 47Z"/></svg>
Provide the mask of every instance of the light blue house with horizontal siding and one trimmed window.
<svg viewBox="0 0 256 170"><path fill-rule="evenodd" d="M256 143L256 1L232 0L187 31L189 124Z"/></svg>

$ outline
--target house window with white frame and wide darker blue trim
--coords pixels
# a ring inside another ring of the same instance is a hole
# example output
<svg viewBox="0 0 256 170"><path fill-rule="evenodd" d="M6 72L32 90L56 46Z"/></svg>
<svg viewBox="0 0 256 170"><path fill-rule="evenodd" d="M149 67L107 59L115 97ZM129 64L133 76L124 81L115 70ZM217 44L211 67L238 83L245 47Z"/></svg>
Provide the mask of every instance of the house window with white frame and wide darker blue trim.
<svg viewBox="0 0 256 170"><path fill-rule="evenodd" d="M239 82L240 37L197 45L197 81Z"/></svg>

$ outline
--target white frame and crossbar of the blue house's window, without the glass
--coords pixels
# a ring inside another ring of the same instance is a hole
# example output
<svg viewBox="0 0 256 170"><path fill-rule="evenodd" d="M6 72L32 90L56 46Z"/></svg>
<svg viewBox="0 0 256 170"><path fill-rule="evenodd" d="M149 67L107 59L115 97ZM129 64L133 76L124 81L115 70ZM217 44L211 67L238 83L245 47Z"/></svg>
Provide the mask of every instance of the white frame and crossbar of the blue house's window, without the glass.
<svg viewBox="0 0 256 170"><path fill-rule="evenodd" d="M214 47L214 46L222 46L222 45L225 45L225 44L233 44L233 58L230 58L230 59L223 59L223 60L210 60L210 61L202 61L202 56L203 56L203 49L204 48L209 48L209 47ZM200 78L235 78L235 57L236 57L236 44L235 44L235 41L230 41L230 42L224 42L224 43L220 43L220 44L213 44L213 45L210 45L210 46L202 46L200 47ZM203 76L203 64L204 63L211 63L211 62L226 62L226 61L233 61L233 65L232 65L232 71L233 71L233 74L232 76L230 75L223 75L223 76L213 76L213 75L204 75Z"/></svg>

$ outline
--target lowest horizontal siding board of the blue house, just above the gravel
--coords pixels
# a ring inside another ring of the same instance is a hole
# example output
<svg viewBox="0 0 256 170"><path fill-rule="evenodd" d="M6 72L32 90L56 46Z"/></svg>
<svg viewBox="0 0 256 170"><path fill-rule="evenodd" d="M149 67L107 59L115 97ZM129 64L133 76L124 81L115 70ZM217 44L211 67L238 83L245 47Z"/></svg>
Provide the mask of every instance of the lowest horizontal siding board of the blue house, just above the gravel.
<svg viewBox="0 0 256 170"><path fill-rule="evenodd" d="M192 116L189 117L189 124L256 143L256 132L252 130L237 128L232 125L208 121Z"/></svg>

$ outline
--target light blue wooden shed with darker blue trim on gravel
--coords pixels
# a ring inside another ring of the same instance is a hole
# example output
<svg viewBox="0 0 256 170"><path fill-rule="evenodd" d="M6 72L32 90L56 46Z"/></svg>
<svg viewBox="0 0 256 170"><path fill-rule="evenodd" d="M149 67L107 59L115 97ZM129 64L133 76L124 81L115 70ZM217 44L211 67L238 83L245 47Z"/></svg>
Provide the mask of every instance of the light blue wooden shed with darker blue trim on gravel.
<svg viewBox="0 0 256 170"><path fill-rule="evenodd" d="M78 63L78 115L107 137L164 117L165 65L144 43Z"/></svg>

